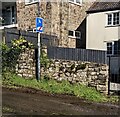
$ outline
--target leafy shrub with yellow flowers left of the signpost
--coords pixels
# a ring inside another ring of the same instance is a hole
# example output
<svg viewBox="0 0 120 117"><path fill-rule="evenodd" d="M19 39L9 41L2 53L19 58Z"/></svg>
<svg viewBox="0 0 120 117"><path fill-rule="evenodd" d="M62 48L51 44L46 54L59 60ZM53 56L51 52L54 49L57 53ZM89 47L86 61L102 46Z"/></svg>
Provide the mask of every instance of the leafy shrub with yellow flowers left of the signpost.
<svg viewBox="0 0 120 117"><path fill-rule="evenodd" d="M19 54L24 51L26 48L34 48L33 44L28 42L23 37L20 37L17 40L11 42L11 46L8 47L6 44L2 43L2 72L15 71L15 66Z"/></svg>

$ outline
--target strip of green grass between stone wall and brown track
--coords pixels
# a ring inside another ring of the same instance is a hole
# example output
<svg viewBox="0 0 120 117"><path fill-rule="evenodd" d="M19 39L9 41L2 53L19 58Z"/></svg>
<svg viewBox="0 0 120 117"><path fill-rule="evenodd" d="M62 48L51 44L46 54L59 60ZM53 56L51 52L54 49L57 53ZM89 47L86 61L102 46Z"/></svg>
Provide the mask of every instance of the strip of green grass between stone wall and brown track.
<svg viewBox="0 0 120 117"><path fill-rule="evenodd" d="M80 84L70 84L67 81L62 81L61 83L55 80L40 80L39 82L36 79L24 79L15 74L5 73L3 76L3 86L5 87L30 87L50 93L58 94L70 94L77 97L87 99L89 101L95 102L116 102L118 97L107 97L103 94L96 91L95 88L90 88Z"/></svg>

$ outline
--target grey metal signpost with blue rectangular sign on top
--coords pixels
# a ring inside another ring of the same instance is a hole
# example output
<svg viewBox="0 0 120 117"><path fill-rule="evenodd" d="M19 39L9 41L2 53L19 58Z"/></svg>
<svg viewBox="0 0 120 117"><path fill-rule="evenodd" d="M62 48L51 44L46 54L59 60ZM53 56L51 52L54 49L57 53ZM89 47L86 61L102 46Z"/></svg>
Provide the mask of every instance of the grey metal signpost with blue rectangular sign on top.
<svg viewBox="0 0 120 117"><path fill-rule="evenodd" d="M36 32L38 32L38 65L37 65L37 80L40 80L40 34L43 32L43 19L40 17L36 18Z"/></svg>

